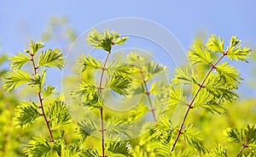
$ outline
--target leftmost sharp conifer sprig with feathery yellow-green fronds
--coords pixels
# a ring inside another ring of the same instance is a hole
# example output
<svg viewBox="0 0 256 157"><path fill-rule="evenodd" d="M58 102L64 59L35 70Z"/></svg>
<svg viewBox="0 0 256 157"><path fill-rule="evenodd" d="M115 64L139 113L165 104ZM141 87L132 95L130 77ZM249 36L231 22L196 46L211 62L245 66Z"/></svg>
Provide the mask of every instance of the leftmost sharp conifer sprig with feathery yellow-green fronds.
<svg viewBox="0 0 256 157"><path fill-rule="evenodd" d="M37 55L40 48L44 48L43 42L31 42L30 50L26 48L25 53L19 53L9 59L12 71L7 72L3 76L3 88L11 91L20 85L26 84L36 90L38 95L39 104L27 101L18 105L14 114L15 125L26 127L36 121L38 117L43 116L49 132L49 138L34 138L34 140L26 144L24 153L28 156L47 156L54 149L61 156L61 150L55 149L54 146L58 143L58 140L55 141L53 131L59 126L69 123L71 116L68 114L65 104L61 102L51 104L48 108L49 112L46 112L44 98L54 94L55 87L50 85L44 87L47 73L44 67L57 67L61 69L64 65L64 58L61 51L55 48L53 51L51 49L42 51L38 61L36 61L35 55ZM27 62L32 64L32 76L26 70L21 69ZM45 142L47 140L49 142Z"/></svg>

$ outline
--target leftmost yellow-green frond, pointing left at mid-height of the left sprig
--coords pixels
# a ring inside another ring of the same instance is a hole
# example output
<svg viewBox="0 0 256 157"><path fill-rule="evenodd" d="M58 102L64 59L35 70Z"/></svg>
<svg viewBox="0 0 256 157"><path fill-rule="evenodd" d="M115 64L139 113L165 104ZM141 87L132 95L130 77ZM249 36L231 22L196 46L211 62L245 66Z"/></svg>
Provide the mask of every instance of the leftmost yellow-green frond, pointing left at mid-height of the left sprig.
<svg viewBox="0 0 256 157"><path fill-rule="evenodd" d="M8 71L3 75L3 89L9 92L30 81L32 81L32 78L25 70Z"/></svg>

